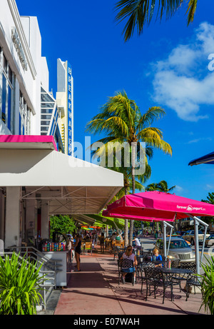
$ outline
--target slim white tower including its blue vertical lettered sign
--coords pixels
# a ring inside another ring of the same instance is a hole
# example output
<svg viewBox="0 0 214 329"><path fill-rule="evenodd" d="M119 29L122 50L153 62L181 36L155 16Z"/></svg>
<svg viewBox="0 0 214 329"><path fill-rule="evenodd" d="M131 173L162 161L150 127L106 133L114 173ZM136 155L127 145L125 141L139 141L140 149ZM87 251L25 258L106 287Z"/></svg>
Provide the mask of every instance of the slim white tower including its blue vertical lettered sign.
<svg viewBox="0 0 214 329"><path fill-rule="evenodd" d="M58 126L66 154L73 155L73 76L68 61L57 60Z"/></svg>

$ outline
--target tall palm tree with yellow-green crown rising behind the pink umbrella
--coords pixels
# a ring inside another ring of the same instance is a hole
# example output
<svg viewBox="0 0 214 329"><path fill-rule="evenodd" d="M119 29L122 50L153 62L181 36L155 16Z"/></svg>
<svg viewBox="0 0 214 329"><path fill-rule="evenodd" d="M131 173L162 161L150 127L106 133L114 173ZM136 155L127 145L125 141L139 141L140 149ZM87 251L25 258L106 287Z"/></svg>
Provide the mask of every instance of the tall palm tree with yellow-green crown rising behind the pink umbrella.
<svg viewBox="0 0 214 329"><path fill-rule="evenodd" d="M163 141L163 133L160 129L152 127L154 120L162 118L165 111L160 106L148 108L146 113L141 114L140 108L135 101L128 98L125 91L116 93L116 96L109 97L108 102L101 107L98 113L86 125L89 133L106 133L106 137L99 140L103 146L96 151L98 156L106 156L109 142L113 142L115 151L121 149L121 143L128 143L131 149L131 176L132 191L136 191L136 158L146 143L146 156L151 158L153 148L158 148L166 154L172 154L171 146ZM113 152L113 150L111 150ZM133 221L130 227L130 241L133 236Z"/></svg>

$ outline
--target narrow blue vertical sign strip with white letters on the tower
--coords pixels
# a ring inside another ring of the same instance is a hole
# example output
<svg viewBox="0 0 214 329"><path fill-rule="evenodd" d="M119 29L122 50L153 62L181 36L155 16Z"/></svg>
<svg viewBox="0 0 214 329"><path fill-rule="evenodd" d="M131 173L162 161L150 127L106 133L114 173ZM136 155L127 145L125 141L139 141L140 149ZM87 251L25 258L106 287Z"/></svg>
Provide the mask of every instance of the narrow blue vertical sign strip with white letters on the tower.
<svg viewBox="0 0 214 329"><path fill-rule="evenodd" d="M72 71L68 63L68 156L73 153L72 128Z"/></svg>

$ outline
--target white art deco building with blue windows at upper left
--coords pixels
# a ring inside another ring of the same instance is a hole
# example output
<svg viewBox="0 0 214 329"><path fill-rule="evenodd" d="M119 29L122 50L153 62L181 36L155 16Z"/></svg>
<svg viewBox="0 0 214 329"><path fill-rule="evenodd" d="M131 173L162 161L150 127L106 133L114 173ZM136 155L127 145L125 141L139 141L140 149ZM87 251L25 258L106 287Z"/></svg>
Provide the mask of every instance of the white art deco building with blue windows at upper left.
<svg viewBox="0 0 214 329"><path fill-rule="evenodd" d="M0 134L51 135L64 151L37 18L0 0Z"/></svg>

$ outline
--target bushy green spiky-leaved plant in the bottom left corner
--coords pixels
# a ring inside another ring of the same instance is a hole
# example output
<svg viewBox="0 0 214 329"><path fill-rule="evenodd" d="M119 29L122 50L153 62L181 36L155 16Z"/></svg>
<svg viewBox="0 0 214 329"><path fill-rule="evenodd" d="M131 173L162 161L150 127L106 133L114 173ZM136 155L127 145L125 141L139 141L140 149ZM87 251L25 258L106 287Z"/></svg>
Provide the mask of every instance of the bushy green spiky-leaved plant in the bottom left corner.
<svg viewBox="0 0 214 329"><path fill-rule="evenodd" d="M0 257L0 315L36 314L36 305L43 300L39 293L45 280L39 274L41 266L17 253Z"/></svg>

